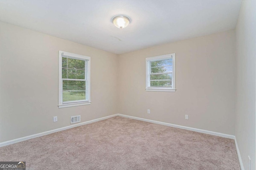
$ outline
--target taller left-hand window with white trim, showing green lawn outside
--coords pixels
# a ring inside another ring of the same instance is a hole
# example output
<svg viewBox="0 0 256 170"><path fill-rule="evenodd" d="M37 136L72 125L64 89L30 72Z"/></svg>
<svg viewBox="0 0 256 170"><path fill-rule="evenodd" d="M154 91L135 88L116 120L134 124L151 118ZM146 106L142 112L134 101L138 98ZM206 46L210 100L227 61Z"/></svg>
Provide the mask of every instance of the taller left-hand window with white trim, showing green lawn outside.
<svg viewBox="0 0 256 170"><path fill-rule="evenodd" d="M59 51L59 108L90 103L90 57Z"/></svg>

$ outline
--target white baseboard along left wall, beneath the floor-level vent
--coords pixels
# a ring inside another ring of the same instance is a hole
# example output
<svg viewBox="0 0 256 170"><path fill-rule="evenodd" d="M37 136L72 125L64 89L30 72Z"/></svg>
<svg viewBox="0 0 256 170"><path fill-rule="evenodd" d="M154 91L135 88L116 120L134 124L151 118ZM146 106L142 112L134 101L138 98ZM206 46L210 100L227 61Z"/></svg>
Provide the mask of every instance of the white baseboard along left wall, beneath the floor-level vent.
<svg viewBox="0 0 256 170"><path fill-rule="evenodd" d="M82 122L82 123L77 123L75 125L61 127L61 128L53 129L53 130L50 130L50 131L46 131L46 132L42 132L42 133L37 133L37 134L34 134L34 135L29 135L29 136L21 137L21 138L18 138L18 139L13 139L13 140L10 140L10 141L1 142L0 143L0 147L4 147L4 146L11 145L11 144L14 144L14 143L18 143L18 142L21 142L21 141L26 141L28 139L33 139L33 138L36 138L36 137L41 137L41 136L48 135L48 134L51 134L51 133L56 133L56 132L59 132L59 131L64 131L66 129L71 129L73 127L78 127L78 126L86 125L86 124L93 123L93 122L96 122L96 121L101 121L101 120L104 120L104 119L115 117L117 115L118 114L110 115L110 116L106 116L106 117L101 117L101 118L98 118L98 119L93 119L93 120L90 120L90 121L85 121L85 122Z"/></svg>

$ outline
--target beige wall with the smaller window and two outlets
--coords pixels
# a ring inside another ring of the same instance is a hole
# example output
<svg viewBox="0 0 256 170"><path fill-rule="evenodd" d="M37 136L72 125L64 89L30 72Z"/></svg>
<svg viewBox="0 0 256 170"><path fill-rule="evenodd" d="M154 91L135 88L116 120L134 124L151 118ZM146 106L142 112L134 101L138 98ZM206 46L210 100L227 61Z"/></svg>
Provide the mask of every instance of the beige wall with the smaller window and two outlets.
<svg viewBox="0 0 256 170"><path fill-rule="evenodd" d="M145 58L170 53L176 92L146 92ZM234 135L235 31L120 55L118 82L122 114Z"/></svg>

